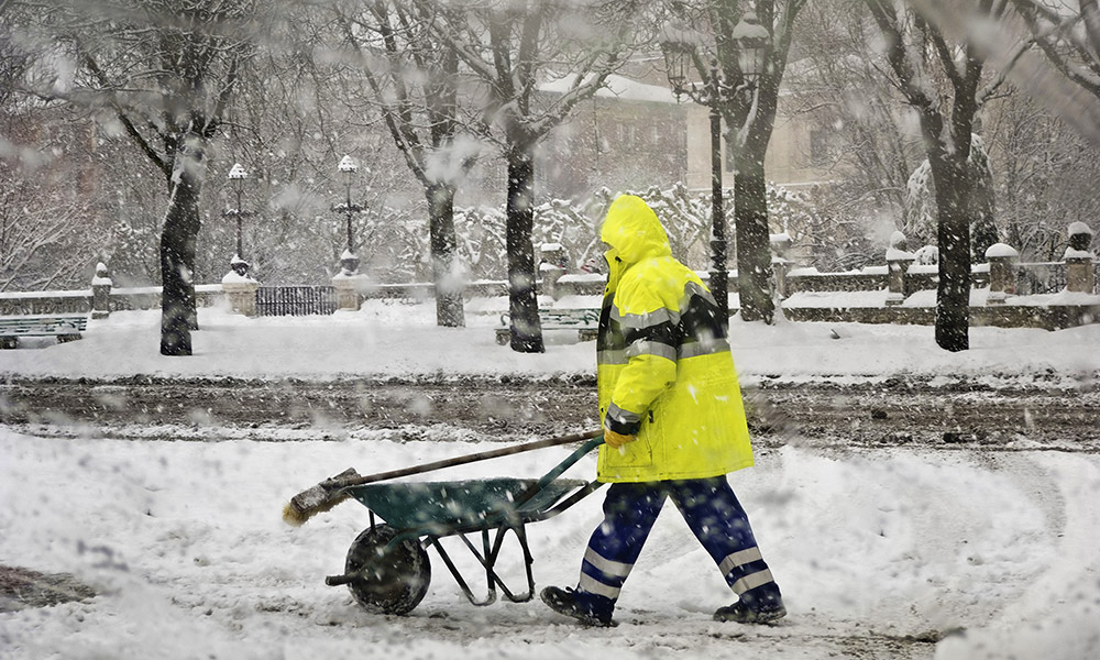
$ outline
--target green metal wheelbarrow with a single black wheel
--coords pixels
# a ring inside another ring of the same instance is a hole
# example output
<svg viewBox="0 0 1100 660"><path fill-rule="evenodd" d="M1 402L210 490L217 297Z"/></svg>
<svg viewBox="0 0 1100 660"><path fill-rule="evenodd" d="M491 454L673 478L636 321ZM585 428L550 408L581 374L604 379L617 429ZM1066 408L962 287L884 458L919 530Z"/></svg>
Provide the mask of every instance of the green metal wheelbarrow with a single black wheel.
<svg viewBox="0 0 1100 660"><path fill-rule="evenodd" d="M336 492L338 496L355 499L370 510L371 526L349 548L344 572L326 578L324 583L329 586L348 585L355 602L369 612L408 614L428 593L431 564L427 549L433 548L472 604L484 606L496 602L497 587L513 603L530 601L535 596L535 576L531 571L535 559L528 546L526 526L557 516L603 485L595 481L560 479L569 468L604 442L603 436L595 433L587 433L583 438L590 439L538 480L493 477L424 483L365 483L340 488ZM487 452L481 457L495 458L526 451L527 448L538 449L536 446L546 447L553 442L558 441L542 441L520 446L517 450ZM480 458L475 457L473 460ZM422 471L427 470L411 469L405 473ZM371 477L360 480L377 481ZM384 522L380 524L377 518L382 518ZM524 592L513 591L496 571L508 532L515 536L522 551L527 574L527 588ZM469 538L469 535L477 534L481 536L481 549ZM484 596L474 594L440 543L440 539L447 537L461 539L484 569L487 582L487 593Z"/></svg>

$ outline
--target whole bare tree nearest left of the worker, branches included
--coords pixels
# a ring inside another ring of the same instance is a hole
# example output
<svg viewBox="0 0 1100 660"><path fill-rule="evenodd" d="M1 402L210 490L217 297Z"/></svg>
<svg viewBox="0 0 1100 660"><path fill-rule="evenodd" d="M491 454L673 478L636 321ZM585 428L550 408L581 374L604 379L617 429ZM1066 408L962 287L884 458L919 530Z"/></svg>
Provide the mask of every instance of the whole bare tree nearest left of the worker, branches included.
<svg viewBox="0 0 1100 660"><path fill-rule="evenodd" d="M476 84L482 132L508 169L507 230L512 349L544 351L535 292L531 231L539 142L620 65L631 12L627 2L479 0L448 6L431 23ZM561 95L538 92L548 75L568 77Z"/></svg>

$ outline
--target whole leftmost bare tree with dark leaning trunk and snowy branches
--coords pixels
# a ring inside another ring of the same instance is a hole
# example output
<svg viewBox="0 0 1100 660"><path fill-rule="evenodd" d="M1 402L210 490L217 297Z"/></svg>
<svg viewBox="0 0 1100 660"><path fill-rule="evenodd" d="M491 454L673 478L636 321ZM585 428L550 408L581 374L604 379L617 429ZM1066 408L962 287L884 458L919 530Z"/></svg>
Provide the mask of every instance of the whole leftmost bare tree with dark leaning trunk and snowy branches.
<svg viewBox="0 0 1100 660"><path fill-rule="evenodd" d="M78 67L41 90L109 110L164 177L161 353L189 355L207 152L250 53L252 0L53 0L44 22Z"/></svg>

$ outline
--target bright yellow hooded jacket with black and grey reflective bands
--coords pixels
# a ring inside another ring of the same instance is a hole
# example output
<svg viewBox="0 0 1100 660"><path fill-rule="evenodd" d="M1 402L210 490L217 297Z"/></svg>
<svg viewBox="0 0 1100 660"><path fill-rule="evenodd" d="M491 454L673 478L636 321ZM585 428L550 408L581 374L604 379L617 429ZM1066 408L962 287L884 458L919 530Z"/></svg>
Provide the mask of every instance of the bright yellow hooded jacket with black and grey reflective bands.
<svg viewBox="0 0 1100 660"><path fill-rule="evenodd" d="M601 239L610 274L596 345L600 415L637 440L600 448L598 481L705 479L752 465L711 292L672 257L657 213L639 197L612 202Z"/></svg>

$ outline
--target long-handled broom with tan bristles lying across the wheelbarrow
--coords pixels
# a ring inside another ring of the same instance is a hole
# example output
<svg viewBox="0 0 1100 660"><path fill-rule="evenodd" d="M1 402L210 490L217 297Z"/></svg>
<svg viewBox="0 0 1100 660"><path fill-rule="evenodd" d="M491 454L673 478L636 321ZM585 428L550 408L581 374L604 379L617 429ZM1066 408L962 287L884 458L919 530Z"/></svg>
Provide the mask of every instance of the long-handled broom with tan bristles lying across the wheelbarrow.
<svg viewBox="0 0 1100 660"><path fill-rule="evenodd" d="M466 463L473 463L475 461L485 461L488 459L496 459L499 457L507 457L512 454L522 453L525 451L544 449L547 447L570 444L572 442L590 440L592 438L595 438L596 436L600 436L601 433L603 433L602 430L587 431L584 433L576 433L573 436L551 438L549 440L537 440L535 442L525 442L522 444L506 447L504 449L494 449L492 451L483 451L479 453L468 454L464 457L446 459L443 461L425 463L424 465L403 468L400 470L391 470L389 472L380 472L378 474L370 474L366 476L360 476L359 472L356 472L354 468L349 468L348 470L344 470L340 474L336 476L330 476L329 479L322 481L316 486L307 488L301 493L298 493L297 495L292 497L290 502L283 507L283 521L294 527L301 527L317 514L331 510L332 507L337 506L341 502L351 497L351 495L349 495L346 491L346 488L351 486L362 486L364 484L373 484L374 482L398 479L402 476L409 476L410 474L421 474L424 472L431 472L432 470L441 470L443 468L452 468L454 465L465 465Z"/></svg>

